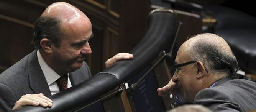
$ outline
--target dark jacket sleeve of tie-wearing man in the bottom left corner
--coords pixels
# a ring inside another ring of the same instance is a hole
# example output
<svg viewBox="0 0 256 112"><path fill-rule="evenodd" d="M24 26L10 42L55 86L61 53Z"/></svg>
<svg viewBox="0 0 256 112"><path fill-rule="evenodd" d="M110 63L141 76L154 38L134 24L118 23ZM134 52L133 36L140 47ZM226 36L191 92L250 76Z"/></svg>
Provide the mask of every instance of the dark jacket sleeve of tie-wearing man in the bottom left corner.
<svg viewBox="0 0 256 112"><path fill-rule="evenodd" d="M3 83L0 83L0 112L7 112L13 109L17 98L13 91Z"/></svg>

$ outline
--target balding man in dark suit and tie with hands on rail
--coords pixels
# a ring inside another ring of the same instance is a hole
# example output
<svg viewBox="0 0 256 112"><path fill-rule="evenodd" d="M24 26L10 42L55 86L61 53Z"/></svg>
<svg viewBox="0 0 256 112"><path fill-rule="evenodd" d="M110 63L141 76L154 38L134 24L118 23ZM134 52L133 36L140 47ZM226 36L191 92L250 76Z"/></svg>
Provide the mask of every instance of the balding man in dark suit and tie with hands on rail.
<svg viewBox="0 0 256 112"><path fill-rule="evenodd" d="M48 6L35 24L36 50L0 74L0 111L51 107L49 96L90 78L84 58L92 52L88 43L92 37L92 24L82 11L65 2ZM131 58L119 53L105 65Z"/></svg>

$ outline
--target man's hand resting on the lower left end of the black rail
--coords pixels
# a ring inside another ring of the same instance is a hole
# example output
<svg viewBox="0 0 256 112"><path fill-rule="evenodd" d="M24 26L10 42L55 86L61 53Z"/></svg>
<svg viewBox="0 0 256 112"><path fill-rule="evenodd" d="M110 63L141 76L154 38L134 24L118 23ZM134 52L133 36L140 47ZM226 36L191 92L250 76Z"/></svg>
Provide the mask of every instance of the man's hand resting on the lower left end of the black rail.
<svg viewBox="0 0 256 112"><path fill-rule="evenodd" d="M51 107L53 101L44 94L26 94L21 96L21 98L15 103L13 110L19 109L23 106L42 106L42 107Z"/></svg>

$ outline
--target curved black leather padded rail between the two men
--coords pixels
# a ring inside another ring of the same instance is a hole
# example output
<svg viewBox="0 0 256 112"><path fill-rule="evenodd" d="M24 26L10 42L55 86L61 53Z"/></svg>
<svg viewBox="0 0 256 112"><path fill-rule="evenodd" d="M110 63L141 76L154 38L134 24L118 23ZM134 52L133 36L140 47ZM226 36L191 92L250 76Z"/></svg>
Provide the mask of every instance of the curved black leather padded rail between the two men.
<svg viewBox="0 0 256 112"><path fill-rule="evenodd" d="M61 112L77 106L84 106L98 99L107 91L132 78L150 64L162 51L169 51L174 40L178 21L171 10L155 10L149 15L148 30L138 45L130 51L134 58L119 61L92 78L65 91L50 96L51 108L25 106L14 111Z"/></svg>

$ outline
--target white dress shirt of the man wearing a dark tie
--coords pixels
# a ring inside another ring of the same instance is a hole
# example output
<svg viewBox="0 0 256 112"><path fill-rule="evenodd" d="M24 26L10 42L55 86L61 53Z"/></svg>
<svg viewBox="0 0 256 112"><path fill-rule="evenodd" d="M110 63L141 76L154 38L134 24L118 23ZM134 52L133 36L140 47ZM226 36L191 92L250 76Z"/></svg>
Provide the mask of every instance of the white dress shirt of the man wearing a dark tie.
<svg viewBox="0 0 256 112"><path fill-rule="evenodd" d="M57 74L53 69L51 69L51 67L49 67L46 62L44 61L44 59L41 56L41 53L39 52L39 50L37 50L37 58L38 58L38 62L39 65L41 66L41 69L44 73L44 77L46 78L46 81L48 83L49 89L51 91L51 94L56 94L59 92L59 87L56 83L57 79L59 79L61 76L59 74ZM67 74L69 75L69 74ZM69 80L69 77L67 78L67 88L72 87L71 82Z"/></svg>

